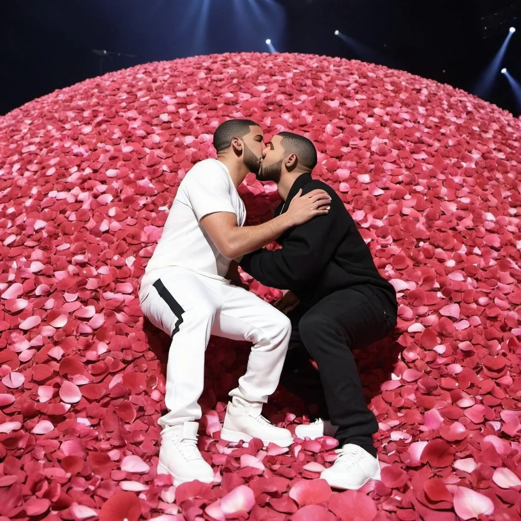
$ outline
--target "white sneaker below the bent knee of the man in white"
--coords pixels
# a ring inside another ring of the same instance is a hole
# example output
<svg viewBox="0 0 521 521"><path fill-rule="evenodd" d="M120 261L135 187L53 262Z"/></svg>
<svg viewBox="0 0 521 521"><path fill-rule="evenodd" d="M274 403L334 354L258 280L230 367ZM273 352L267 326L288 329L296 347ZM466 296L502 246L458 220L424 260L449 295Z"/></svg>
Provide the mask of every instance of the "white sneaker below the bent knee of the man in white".
<svg viewBox="0 0 521 521"><path fill-rule="evenodd" d="M279 447L288 447L293 443L293 436L288 429L276 427L261 414L262 404L247 406L228 403L226 416L221 430L221 440L250 441L259 438L264 446L275 443Z"/></svg>

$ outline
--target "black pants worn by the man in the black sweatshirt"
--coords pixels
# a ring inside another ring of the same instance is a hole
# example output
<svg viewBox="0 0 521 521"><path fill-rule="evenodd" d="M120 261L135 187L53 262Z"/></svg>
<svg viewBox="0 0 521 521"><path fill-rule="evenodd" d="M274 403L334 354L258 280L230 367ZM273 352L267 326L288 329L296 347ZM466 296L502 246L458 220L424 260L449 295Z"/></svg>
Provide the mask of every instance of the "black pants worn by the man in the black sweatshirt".
<svg viewBox="0 0 521 521"><path fill-rule="evenodd" d="M357 287L336 291L312 307L299 304L288 313L293 334L281 382L301 398L323 390L320 415L339 427L340 446L355 443L374 452L378 423L365 403L351 349L386 337L396 325L396 308L379 290ZM318 365L321 390L313 382L306 351Z"/></svg>

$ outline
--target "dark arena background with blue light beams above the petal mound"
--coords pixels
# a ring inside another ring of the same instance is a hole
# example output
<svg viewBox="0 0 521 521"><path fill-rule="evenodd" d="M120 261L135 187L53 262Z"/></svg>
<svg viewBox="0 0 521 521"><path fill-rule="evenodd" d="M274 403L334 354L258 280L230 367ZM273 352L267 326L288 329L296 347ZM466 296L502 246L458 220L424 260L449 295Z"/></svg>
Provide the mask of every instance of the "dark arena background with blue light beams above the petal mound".
<svg viewBox="0 0 521 521"><path fill-rule="evenodd" d="M0 114L100 71L264 52L266 38L280 52L375 61L476 92L480 73L519 20L519 0L3 0ZM517 29L503 66L521 81L521 23ZM136 57L101 58L92 49ZM484 97L519 114L501 74Z"/></svg>

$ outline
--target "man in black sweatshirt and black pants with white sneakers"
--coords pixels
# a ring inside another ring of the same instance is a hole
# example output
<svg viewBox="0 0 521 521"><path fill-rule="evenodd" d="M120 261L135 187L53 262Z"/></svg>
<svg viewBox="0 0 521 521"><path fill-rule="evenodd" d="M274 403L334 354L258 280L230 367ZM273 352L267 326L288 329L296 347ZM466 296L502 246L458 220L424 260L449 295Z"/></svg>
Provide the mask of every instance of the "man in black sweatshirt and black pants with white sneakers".
<svg viewBox="0 0 521 521"><path fill-rule="evenodd" d="M278 240L280 250L245 255L240 266L265 286L289 290L278 307L288 312L294 337L300 337L317 363L327 406L324 413L338 427L339 456L321 477L336 488L358 489L380 477L372 436L378 423L365 403L351 350L382 339L396 325L396 293L379 275L338 194L311 177L317 163L313 143L281 132L263 157L258 179L275 181L283 200L276 216L287 210L296 194L321 188L331 195L327 215L288 230ZM290 351L287 369L294 370L307 358L305 351ZM324 424L319 420L318 425Z"/></svg>

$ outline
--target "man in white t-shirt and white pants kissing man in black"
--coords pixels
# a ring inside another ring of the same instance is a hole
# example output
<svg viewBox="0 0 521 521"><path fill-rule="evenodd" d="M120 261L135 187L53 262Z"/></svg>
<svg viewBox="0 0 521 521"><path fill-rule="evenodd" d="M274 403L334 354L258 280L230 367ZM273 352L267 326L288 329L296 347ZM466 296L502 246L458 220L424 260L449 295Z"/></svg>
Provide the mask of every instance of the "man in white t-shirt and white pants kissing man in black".
<svg viewBox="0 0 521 521"><path fill-rule="evenodd" d="M197 402L210 334L253 343L246 373L230 392L221 439L292 443L289 430L262 416L263 404L279 382L290 321L255 294L234 286L227 274L230 259L239 260L327 213L330 202L321 190L298 194L280 217L243 227L246 213L237 188L247 173L259 171L263 131L250 120L228 120L215 131L214 146L218 158L196 164L180 183L139 292L144 315L171 337L158 473L169 473L178 483L214 479L197 449Z"/></svg>

